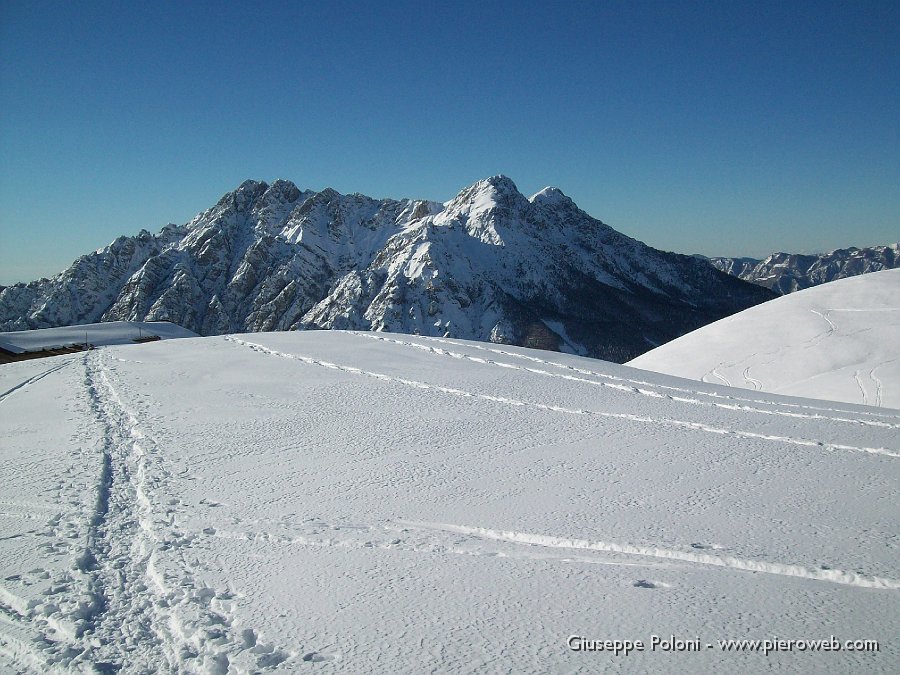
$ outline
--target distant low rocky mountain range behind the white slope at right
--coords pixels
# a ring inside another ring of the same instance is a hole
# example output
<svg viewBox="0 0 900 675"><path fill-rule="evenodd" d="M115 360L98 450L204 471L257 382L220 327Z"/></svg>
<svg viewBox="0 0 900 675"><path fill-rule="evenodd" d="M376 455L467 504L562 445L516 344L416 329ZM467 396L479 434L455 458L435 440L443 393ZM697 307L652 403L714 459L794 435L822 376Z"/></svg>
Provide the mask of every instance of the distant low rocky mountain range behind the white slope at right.
<svg viewBox="0 0 900 675"><path fill-rule="evenodd" d="M900 267L900 244L871 248L841 248L819 255L773 253L765 260L753 258L708 258L708 260L716 269L784 294L836 279Z"/></svg>

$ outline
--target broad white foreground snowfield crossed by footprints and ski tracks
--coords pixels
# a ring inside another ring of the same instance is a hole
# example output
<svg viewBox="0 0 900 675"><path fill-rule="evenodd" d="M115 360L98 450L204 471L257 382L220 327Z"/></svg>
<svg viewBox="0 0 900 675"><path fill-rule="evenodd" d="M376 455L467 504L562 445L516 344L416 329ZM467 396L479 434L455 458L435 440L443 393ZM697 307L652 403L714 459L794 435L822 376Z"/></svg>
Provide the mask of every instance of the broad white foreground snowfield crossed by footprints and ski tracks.
<svg viewBox="0 0 900 675"><path fill-rule="evenodd" d="M900 412L338 331L0 392L0 671L900 669ZM831 635L880 650L717 642Z"/></svg>

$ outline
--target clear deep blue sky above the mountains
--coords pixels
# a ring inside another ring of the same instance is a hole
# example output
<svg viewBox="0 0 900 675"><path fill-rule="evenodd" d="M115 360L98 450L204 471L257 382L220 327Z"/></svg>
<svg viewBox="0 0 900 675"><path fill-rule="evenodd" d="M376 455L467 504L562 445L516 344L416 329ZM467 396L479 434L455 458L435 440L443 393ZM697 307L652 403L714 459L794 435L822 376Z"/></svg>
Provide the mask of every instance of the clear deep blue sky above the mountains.
<svg viewBox="0 0 900 675"><path fill-rule="evenodd" d="M900 3L0 0L0 283L246 178L504 173L652 246L900 240Z"/></svg>

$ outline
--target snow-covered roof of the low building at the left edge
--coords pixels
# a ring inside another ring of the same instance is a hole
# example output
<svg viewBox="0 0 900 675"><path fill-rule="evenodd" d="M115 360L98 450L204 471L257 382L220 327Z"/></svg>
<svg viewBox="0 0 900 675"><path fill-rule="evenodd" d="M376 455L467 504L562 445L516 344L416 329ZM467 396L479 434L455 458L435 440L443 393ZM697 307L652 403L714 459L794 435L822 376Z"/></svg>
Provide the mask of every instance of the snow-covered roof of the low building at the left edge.
<svg viewBox="0 0 900 675"><path fill-rule="evenodd" d="M82 326L62 326L39 330L0 333L0 347L20 354L87 342L95 347L133 343L135 338L157 335L162 340L197 337L186 328L168 321L109 321Z"/></svg>

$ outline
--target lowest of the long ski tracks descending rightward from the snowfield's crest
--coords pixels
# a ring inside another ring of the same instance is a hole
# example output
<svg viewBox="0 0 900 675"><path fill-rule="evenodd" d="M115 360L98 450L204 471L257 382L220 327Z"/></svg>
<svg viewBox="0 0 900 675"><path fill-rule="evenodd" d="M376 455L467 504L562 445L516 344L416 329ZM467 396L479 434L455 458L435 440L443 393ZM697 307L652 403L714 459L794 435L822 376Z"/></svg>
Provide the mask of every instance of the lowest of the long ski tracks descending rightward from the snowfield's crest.
<svg viewBox="0 0 900 675"><path fill-rule="evenodd" d="M574 409L574 408L566 408L564 406L557 405L548 405L545 403L537 403L533 401L523 401L520 399L512 399L505 396L493 396L491 394L481 394L476 392L465 391L462 389L456 389L453 387L444 387L440 385L428 384L425 382L419 382L417 380L408 380L401 377L395 377L392 375L386 375L384 373L377 373L373 371L363 370L362 368L356 368L354 366L346 366L337 363L331 363L329 361L322 361L320 359L314 359L309 356L303 356L301 354L288 354L286 352L280 352L275 349L270 349L269 347L265 347L264 345L260 345L254 342L248 342L241 338L235 337L233 335L225 336L224 338L227 342L231 342L233 344L246 347L252 349L254 351L259 352L260 354L268 354L270 356L276 356L284 359L291 359L294 361L299 361L301 363L305 363L307 365L319 366L322 368L329 368L331 370L339 370L347 373L352 373L354 375L362 375L365 377L371 377L376 380L381 380L384 382L395 382L398 384L402 384L408 387L415 387L417 389L427 389L432 391L439 391L445 394L450 394L452 396L459 396L463 398L471 398L482 401L490 401L492 403L500 403L503 405L516 406L516 407L531 407L536 408L538 410L545 410L554 413L561 413L566 415L592 415L597 417L611 418L611 419L621 419L627 420L631 422L640 422L640 423L648 423L648 424L656 424L660 426L672 426L686 429L693 429L695 431L700 431L704 433L712 433L719 435L732 435L738 438L746 438L746 439L759 439L766 441L773 441L776 443L783 443L787 445L794 446L806 446L806 447L820 447L824 450L847 450L852 452L863 452L875 455L884 455L887 457L900 457L900 452L896 452L894 450L890 450L888 448L867 448L867 447L859 447L853 445L844 445L837 443L826 443L820 440L811 440L805 438L792 438L789 436L775 436L771 434L761 434L752 431L743 431L739 429L726 429L720 427L713 427L707 424L703 424L701 422L690 422L686 420L676 420L671 418L656 418L656 417L644 417L641 415L633 415L629 413L612 413L612 412L603 412L599 410L585 410L582 408Z"/></svg>

